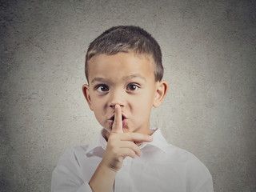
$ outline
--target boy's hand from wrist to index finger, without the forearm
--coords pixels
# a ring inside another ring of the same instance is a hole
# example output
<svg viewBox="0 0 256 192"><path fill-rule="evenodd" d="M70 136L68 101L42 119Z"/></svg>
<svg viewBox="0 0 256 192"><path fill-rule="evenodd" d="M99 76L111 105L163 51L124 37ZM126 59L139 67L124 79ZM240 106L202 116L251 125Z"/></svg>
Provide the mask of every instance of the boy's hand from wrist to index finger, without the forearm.
<svg viewBox="0 0 256 192"><path fill-rule="evenodd" d="M111 170L118 171L122 167L123 159L126 156L135 158L141 156L142 152L134 142L151 142L152 137L146 134L123 133L122 131L122 110L119 105L115 106L114 123L108 138L106 152L102 163Z"/></svg>

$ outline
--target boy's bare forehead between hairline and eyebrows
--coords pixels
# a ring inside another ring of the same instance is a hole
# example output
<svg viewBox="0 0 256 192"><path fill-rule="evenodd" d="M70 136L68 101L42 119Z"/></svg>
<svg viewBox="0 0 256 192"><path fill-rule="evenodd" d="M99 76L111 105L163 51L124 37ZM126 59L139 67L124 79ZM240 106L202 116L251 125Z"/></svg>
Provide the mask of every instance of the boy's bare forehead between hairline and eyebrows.
<svg viewBox="0 0 256 192"><path fill-rule="evenodd" d="M120 81L126 77L154 79L153 58L146 54L118 53L99 54L88 62L88 81L107 78Z"/></svg>

